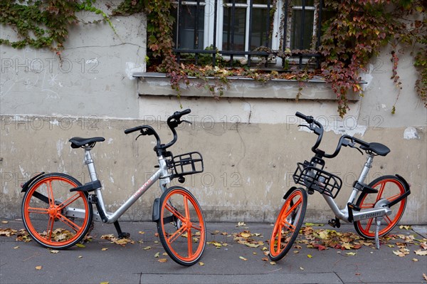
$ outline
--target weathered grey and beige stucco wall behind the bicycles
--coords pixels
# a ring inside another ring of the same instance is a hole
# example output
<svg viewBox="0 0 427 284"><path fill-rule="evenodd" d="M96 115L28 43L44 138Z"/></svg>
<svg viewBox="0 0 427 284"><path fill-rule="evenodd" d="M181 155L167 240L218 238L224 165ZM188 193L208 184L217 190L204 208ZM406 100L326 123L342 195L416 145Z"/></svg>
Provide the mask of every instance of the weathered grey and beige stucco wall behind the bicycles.
<svg viewBox="0 0 427 284"><path fill-rule="evenodd" d="M236 95L231 85L218 101L192 90L179 102L153 95L154 91L144 88L146 81L132 77L144 70L144 15L117 17L112 22L120 37L107 24L75 27L61 56L62 65L50 51L0 46L0 216L19 217L19 184L36 172L67 172L88 182L83 151L69 147L68 139L73 136L106 138L93 154L105 186L107 209L117 209L156 164L153 141L148 137L135 141L135 135L125 135L123 130L150 124L167 142L172 137L164 121L181 104L191 108L187 118L194 123L178 130L179 140L171 150L174 154L197 150L203 155L205 172L188 177L184 185L192 189L208 221L273 221L283 194L292 186L296 162L310 159L315 142L315 135L297 127L295 111L300 111L325 123L322 149L327 152L342 133L389 146L391 153L375 158L368 179L382 174L404 176L412 194L401 222L427 223L427 112L413 90L416 76L411 56L399 61L403 90L395 115L391 107L398 90L389 79L387 49L372 60L364 78L364 98L350 103L343 120L337 116L337 102L315 99L319 88L333 98L325 83L307 83L303 98L312 99L299 102L253 95L257 90L267 97L295 93L297 86L292 83L279 87L251 83L247 92L252 95ZM4 26L0 32L2 37L12 34ZM337 159L327 161L328 169L343 178L345 187L337 197L342 206L364 159L346 148ZM122 219L150 219L154 196L159 196L157 188L150 189ZM322 197L309 196L307 221L330 218L332 213Z"/></svg>

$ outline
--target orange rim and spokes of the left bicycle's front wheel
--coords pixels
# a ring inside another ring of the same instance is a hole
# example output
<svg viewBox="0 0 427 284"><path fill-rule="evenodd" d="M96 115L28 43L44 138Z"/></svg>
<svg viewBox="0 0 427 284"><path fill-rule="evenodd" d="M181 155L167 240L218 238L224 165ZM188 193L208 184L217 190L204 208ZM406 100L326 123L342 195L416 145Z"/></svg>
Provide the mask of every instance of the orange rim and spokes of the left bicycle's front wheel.
<svg viewBox="0 0 427 284"><path fill-rule="evenodd" d="M176 195L176 194L181 195L183 198L184 212L177 211L176 209L174 209L174 207L170 206L170 204L168 203L170 196ZM164 200L165 202L164 202L164 205L162 206L162 213L160 216L160 218L162 219L162 231L165 234L167 232L167 229L165 228L165 224L163 221L165 210L170 214L174 215L176 219L178 219L181 222L181 226L179 227L179 229L176 230L171 235L164 236L164 240L166 241L167 246L172 251L172 253L174 253L174 255L177 258L179 258L181 261L186 261L186 262L194 261L195 259L199 258L201 252L204 249L204 243L202 241L204 241L205 239L205 228L204 228L204 223L201 222L203 220L203 215L201 214L201 210L199 209L199 206L197 206L196 201L184 190L176 189L172 191L170 194L168 194ZM199 220L198 223L193 222L194 219L192 219L192 216L190 214L190 207L189 207L190 204L194 208L194 211L195 211L194 213L196 214L196 218L197 220ZM196 236L197 232L200 233L200 236L199 236L200 241L199 241L199 244L197 245L198 247L196 248L196 251L193 251L194 250L193 236ZM179 237L184 235L186 236L186 246L187 246L186 256L183 256L182 255L183 253L179 253L178 251L176 251L176 249L174 249L174 246L173 246L174 242L176 242Z"/></svg>

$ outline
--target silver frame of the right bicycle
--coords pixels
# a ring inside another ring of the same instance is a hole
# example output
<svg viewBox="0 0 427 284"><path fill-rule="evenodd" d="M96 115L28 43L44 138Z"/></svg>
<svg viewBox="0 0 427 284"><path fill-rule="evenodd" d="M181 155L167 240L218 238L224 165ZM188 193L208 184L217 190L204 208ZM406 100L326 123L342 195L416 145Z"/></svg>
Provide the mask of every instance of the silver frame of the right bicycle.
<svg viewBox="0 0 427 284"><path fill-rule="evenodd" d="M371 154L368 154L367 162L364 164L364 167L362 169L362 172L360 173L359 179L357 181L359 183L363 183L366 179L369 169L372 167L372 162L374 161L374 156ZM353 187L352 193L349 196L349 199L347 201L347 204L354 204L354 201L357 199L357 196L359 196L361 191L359 189ZM352 223L353 221L360 221L364 219L371 219L373 217L379 218L384 215L390 215L391 209L389 207L381 207L381 208L374 208L374 209L367 209L367 210L361 210L361 211L352 211L352 218L349 218L349 210L348 206L344 207L343 209L339 209L337 206L337 203L334 201L334 199L331 196L327 196L326 194L322 194L323 198L327 202L327 204L330 206L330 209L334 212L335 217L338 219L345 221L347 223Z"/></svg>

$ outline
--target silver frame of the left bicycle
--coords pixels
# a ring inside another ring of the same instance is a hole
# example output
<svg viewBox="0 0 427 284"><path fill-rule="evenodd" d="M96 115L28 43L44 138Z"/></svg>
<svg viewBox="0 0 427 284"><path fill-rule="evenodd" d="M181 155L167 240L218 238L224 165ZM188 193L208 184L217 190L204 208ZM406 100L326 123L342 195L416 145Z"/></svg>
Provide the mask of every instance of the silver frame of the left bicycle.
<svg viewBox="0 0 427 284"><path fill-rule="evenodd" d="M97 174L95 170L95 164L90 155L91 149L92 148L85 149L84 162L88 166L91 181L95 182L97 181ZM105 209L105 203L102 198L102 188L95 189L95 196L90 198L90 201L95 201L98 209L97 212L93 212L94 220L102 221L103 223L115 223L115 221L117 221L117 219L119 219L120 216L122 216L125 211L127 211L127 209L129 209L130 206L132 206L132 204L134 204L135 201L139 199L139 197L141 197L145 192L147 192L147 190L155 182L157 182L157 180L160 180L159 184L160 189L162 189L162 192L166 191L167 184L169 184L170 182L170 174L168 171L167 163L162 155L158 157L158 161L159 169L157 170L157 172L154 172L154 174L152 174L152 176L147 179L147 182L145 182L141 187L139 187L139 189L135 191L135 193L132 194L129 199L127 199L127 201L125 201L125 203L123 203L122 206L120 206L119 209L117 209L113 213L107 212L107 210ZM82 209L69 208L65 215L83 218L84 214L85 212Z"/></svg>

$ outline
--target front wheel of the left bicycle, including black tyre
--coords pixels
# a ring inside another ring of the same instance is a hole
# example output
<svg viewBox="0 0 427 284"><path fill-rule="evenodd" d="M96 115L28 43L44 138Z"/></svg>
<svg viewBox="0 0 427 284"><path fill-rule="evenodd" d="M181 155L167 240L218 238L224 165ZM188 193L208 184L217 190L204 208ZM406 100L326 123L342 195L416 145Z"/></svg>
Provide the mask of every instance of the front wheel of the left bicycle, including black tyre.
<svg viewBox="0 0 427 284"><path fill-rule="evenodd" d="M206 226L204 216L190 191L172 186L160 197L157 221L160 241L176 263L193 265L204 251Z"/></svg>

